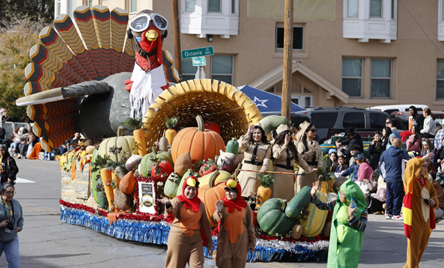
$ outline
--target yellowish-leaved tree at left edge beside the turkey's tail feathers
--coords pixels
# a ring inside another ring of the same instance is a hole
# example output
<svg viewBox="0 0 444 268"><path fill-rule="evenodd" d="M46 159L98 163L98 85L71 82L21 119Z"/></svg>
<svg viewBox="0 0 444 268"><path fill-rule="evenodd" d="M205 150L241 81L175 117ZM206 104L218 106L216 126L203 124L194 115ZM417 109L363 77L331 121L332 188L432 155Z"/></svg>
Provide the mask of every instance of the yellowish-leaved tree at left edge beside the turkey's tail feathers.
<svg viewBox="0 0 444 268"><path fill-rule="evenodd" d="M45 25L29 20L9 23L0 28L0 108L8 116L26 117L26 107L17 107L15 101L24 97L25 68L31 58L29 51L39 42L39 33Z"/></svg>

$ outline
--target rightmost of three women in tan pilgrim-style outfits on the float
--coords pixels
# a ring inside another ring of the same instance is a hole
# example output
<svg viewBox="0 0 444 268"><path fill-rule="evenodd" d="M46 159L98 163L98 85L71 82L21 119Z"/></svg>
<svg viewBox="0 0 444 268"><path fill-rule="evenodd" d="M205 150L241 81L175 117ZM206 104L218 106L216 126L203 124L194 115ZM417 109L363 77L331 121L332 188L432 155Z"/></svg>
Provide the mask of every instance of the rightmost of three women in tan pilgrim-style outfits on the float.
<svg viewBox="0 0 444 268"><path fill-rule="evenodd" d="M302 134L300 134L302 133ZM309 122L305 121L300 124L300 131L298 133L300 135L300 142L298 144L298 152L302 155L302 159L307 162L311 171L317 171L318 168L321 168L323 165L323 156L321 147L318 142L314 140L316 137L316 128L313 124L309 124ZM306 170L304 168L299 169L299 173L305 173L310 170ZM307 173L305 175L299 175L296 178L296 194L302 189L304 186L313 185L314 182L318 181L318 177L315 172Z"/></svg>

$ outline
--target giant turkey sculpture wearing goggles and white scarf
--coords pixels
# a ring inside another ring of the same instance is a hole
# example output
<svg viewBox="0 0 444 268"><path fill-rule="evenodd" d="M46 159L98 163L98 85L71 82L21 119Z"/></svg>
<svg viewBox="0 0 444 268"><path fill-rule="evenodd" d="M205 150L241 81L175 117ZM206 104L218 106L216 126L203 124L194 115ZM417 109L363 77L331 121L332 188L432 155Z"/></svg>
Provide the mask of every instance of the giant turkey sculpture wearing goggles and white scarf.
<svg viewBox="0 0 444 268"><path fill-rule="evenodd" d="M25 97L33 132L52 151L71 135L115 136L130 117L143 117L169 83L178 83L171 54L162 50L168 21L151 10L130 22L121 8L79 6L74 22L60 15L40 32L25 70ZM78 32L80 31L80 33ZM134 72L133 72L134 69ZM133 72L133 73L131 73Z"/></svg>

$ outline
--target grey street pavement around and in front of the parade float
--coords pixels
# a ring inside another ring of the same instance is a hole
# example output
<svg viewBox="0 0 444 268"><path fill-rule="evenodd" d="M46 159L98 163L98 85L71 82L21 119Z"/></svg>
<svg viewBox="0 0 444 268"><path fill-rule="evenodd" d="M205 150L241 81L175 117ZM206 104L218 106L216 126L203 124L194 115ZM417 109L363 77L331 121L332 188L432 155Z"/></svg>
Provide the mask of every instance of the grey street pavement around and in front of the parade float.
<svg viewBox="0 0 444 268"><path fill-rule="evenodd" d="M60 164L17 160L15 199L23 207L24 230L19 233L22 268L34 267L164 267L167 246L118 240L89 228L60 221ZM407 238L402 221L370 215L359 267L402 267ZM421 268L442 267L444 225L433 231ZM0 257L0 267L8 267ZM216 267L205 259L205 267ZM326 262L256 262L247 267L327 267Z"/></svg>

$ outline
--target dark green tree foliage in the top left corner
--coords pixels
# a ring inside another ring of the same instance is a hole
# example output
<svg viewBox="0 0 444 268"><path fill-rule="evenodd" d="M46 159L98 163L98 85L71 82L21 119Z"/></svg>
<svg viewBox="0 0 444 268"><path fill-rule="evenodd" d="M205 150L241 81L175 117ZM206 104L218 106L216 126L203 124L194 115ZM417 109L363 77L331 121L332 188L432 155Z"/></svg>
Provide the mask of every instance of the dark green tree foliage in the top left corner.
<svg viewBox="0 0 444 268"><path fill-rule="evenodd" d="M28 19L30 22L51 23L54 20L54 0L0 0L0 17L14 22ZM3 22L0 22L0 26Z"/></svg>

